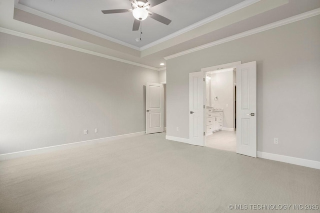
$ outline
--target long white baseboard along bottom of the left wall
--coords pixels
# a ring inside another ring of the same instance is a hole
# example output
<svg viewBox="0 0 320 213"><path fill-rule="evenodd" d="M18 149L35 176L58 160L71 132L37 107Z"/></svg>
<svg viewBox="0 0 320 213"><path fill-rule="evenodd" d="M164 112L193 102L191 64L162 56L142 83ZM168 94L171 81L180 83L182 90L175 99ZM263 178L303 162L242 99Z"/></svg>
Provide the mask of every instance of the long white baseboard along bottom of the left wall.
<svg viewBox="0 0 320 213"><path fill-rule="evenodd" d="M14 158L20 158L20 157L25 157L25 156L31 156L31 155L38 155L38 154L48 153L48 152L62 150L62 149L75 148L75 147L80 147L80 146L84 146L84 145L103 143L103 142L107 142L107 141L114 141L117 139L129 138L129 137L134 137L134 136L139 136L139 135L144 135L144 134L145 134L145 131L135 132L135 133L129 133L129 134L125 134L125 135L117 135L117 136L98 138L98 139L93 139L93 140L88 140L88 141L80 141L80 142L61 144L61 145L56 145L56 146L51 146L51 147L43 147L43 148L25 150L25 151L20 151L20 152L6 153L6 154L0 155L0 161L14 159Z"/></svg>

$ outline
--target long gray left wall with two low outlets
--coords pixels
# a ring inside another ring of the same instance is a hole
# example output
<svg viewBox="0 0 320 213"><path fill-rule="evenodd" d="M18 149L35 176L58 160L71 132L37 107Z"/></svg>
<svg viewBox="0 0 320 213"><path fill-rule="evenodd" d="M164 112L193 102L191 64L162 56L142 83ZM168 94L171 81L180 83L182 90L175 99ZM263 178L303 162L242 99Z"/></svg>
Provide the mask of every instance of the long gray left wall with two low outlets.
<svg viewBox="0 0 320 213"><path fill-rule="evenodd" d="M0 154L145 131L145 82L158 72L0 33Z"/></svg>

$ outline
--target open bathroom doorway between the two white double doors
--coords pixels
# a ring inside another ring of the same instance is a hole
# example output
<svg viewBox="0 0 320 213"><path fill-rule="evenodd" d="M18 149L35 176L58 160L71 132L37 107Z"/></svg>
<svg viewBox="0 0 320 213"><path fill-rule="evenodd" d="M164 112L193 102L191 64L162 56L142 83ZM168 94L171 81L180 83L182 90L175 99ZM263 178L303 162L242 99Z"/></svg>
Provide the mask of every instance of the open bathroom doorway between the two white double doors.
<svg viewBox="0 0 320 213"><path fill-rule="evenodd" d="M205 72L206 146L236 152L236 67L223 66Z"/></svg>

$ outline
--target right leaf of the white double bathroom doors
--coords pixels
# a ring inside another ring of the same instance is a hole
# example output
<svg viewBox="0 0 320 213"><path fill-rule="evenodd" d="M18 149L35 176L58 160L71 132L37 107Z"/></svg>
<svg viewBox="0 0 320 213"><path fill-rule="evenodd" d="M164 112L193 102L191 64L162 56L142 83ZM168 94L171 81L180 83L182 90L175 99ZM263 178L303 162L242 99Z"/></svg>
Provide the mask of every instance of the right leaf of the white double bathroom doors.
<svg viewBox="0 0 320 213"><path fill-rule="evenodd" d="M256 61L236 66L236 153L256 158Z"/></svg>

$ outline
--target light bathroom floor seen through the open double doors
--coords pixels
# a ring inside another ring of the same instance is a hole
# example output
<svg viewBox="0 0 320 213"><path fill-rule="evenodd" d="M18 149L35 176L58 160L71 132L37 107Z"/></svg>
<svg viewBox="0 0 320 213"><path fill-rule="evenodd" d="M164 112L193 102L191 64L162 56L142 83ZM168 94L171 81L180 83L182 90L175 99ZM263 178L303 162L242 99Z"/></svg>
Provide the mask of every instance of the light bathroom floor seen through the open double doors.
<svg viewBox="0 0 320 213"><path fill-rule="evenodd" d="M220 130L207 136L206 146L214 149L226 150L235 152L236 149L236 135L235 131Z"/></svg>

